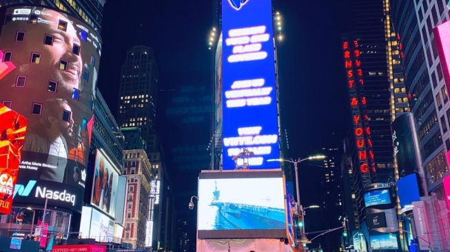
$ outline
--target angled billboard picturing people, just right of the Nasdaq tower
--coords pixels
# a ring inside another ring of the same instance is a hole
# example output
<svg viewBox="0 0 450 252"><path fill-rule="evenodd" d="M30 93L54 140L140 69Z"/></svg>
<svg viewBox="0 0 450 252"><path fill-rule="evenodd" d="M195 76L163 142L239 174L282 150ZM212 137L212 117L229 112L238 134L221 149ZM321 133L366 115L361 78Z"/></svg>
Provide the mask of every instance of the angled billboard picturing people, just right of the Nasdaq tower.
<svg viewBox="0 0 450 252"><path fill-rule="evenodd" d="M122 222L126 178L120 176L119 169L99 149L96 149L94 167L91 204Z"/></svg>

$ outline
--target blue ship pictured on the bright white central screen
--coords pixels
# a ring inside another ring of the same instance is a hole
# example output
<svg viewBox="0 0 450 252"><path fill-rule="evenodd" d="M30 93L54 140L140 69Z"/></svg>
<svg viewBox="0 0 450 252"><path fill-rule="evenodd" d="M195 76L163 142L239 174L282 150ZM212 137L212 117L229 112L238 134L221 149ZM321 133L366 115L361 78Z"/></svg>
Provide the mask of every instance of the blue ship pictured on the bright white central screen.
<svg viewBox="0 0 450 252"><path fill-rule="evenodd" d="M214 199L209 204L217 207L216 223L224 220L233 229L285 229L285 210L252 204L221 202L221 191L213 192ZM269 199L267 199L269 200ZM222 225L222 224L221 224Z"/></svg>

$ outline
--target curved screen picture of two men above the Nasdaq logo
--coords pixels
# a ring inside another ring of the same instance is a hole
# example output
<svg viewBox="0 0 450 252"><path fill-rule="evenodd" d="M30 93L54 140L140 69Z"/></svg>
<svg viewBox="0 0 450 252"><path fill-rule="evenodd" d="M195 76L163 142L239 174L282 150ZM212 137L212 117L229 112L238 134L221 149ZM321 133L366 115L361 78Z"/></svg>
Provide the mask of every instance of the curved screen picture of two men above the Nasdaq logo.
<svg viewBox="0 0 450 252"><path fill-rule="evenodd" d="M19 180L48 181L59 192L84 190L100 36L48 8L3 8L0 20L2 61L15 66L0 79L0 103L28 118ZM49 206L60 206L47 198Z"/></svg>

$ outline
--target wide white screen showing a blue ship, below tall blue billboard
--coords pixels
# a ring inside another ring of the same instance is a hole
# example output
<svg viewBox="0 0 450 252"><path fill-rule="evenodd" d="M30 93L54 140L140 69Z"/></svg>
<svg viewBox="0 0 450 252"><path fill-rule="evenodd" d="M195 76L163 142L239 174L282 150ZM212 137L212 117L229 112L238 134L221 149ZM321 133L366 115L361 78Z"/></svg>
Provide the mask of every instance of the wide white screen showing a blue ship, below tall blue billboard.
<svg viewBox="0 0 450 252"><path fill-rule="evenodd" d="M285 237L285 193L280 174L207 175L219 176L198 182L199 238Z"/></svg>

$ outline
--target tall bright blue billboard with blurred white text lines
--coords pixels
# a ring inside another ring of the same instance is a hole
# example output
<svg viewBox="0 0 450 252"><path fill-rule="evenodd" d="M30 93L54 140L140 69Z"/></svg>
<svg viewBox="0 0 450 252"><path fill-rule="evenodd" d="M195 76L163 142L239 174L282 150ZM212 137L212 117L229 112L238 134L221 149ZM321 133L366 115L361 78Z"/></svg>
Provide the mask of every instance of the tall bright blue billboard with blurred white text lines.
<svg viewBox="0 0 450 252"><path fill-rule="evenodd" d="M280 167L271 2L222 1L223 169L244 149L250 169Z"/></svg>

